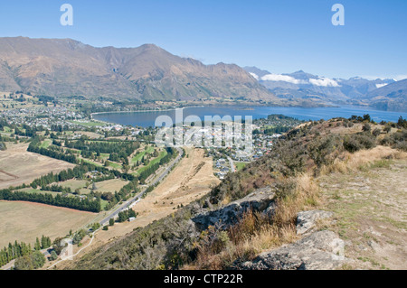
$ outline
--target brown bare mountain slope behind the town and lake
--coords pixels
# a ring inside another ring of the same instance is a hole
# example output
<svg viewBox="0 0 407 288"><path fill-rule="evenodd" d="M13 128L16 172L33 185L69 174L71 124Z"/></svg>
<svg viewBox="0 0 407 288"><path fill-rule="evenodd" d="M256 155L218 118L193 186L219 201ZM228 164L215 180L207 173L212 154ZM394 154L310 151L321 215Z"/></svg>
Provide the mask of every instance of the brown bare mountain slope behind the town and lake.
<svg viewBox="0 0 407 288"><path fill-rule="evenodd" d="M95 48L71 39L0 38L0 88L56 97L280 103L237 65L204 65L153 44Z"/></svg>

